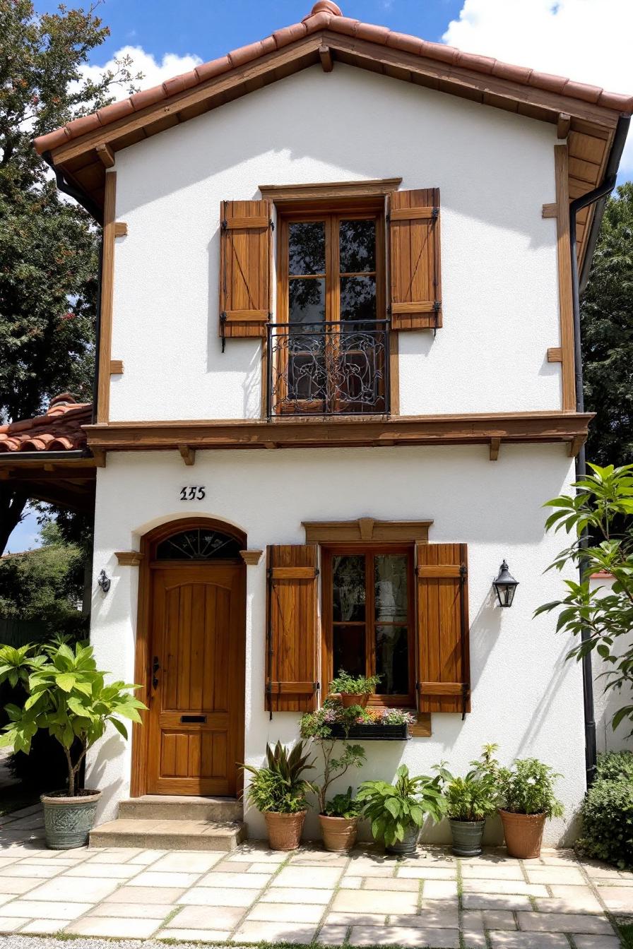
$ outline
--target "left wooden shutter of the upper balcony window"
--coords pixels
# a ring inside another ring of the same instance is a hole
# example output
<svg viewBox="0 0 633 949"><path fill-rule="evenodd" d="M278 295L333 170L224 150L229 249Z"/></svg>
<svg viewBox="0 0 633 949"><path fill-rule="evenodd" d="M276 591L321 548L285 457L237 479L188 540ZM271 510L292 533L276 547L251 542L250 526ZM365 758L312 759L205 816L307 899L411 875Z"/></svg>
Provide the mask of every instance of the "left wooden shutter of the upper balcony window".
<svg viewBox="0 0 633 949"><path fill-rule="evenodd" d="M270 319L270 201L222 201L220 336L266 336Z"/></svg>

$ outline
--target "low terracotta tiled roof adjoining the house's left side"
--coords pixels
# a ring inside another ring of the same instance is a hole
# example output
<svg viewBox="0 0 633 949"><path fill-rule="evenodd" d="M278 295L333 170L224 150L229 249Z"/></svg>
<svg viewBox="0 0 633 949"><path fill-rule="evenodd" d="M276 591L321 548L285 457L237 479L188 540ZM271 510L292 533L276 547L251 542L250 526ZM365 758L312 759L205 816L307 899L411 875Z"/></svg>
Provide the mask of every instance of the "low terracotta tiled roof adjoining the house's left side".
<svg viewBox="0 0 633 949"><path fill-rule="evenodd" d="M46 415L0 425L0 454L85 448L82 425L88 425L91 420L90 402L78 402L65 392L50 401Z"/></svg>

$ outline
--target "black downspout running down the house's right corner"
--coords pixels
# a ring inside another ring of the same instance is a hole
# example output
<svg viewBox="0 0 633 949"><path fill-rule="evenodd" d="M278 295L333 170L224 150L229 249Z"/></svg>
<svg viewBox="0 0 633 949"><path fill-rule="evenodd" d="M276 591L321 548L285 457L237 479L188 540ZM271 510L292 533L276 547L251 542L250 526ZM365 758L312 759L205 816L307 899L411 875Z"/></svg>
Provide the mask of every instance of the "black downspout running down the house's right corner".
<svg viewBox="0 0 633 949"><path fill-rule="evenodd" d="M581 324L580 324L580 280L578 275L578 253L576 247L576 215L579 211L582 211L583 208L588 207L590 204L594 204L596 201L602 201L600 208L596 209L596 214L594 214L593 222L591 226L591 233L587 237L587 258L586 258L586 267L584 268L584 283L586 283L586 277L588 276L588 267L590 265L590 255L593 253L593 248L595 247L598 231L600 229L600 223L602 220L603 212L605 210L605 203L607 196L615 188L616 177L618 173L618 165L620 164L620 158L622 157L622 152L624 149L624 141L626 140L626 134L628 132L630 119L621 118L618 121L618 126L616 128L616 133L613 139L613 144L611 146L611 151L609 153L609 158L606 163L605 168L605 181L598 188L594 188L593 191L588 192L582 197L577 197L575 201L571 201L569 204L569 245L571 251L571 299L573 306L573 329L574 329L574 371L575 371L575 388L576 388L576 412L585 411L585 394L583 392L583 353L581 347ZM583 445L576 456L576 479L584 477L586 474L586 454L585 454L585 445ZM583 533L581 537L581 547L586 547L587 545L587 535L586 532ZM585 579L585 568L581 564L579 568L580 572L580 582L583 583ZM589 638L589 631L586 626L583 626L581 631L581 640L586 642ZM594 707L593 707L593 670L591 666L591 653L587 653L583 657L583 704L585 709L585 770L586 770L586 787L590 788L593 783L593 779L596 772L596 762L597 762L597 745L596 745L596 721L594 717Z"/></svg>

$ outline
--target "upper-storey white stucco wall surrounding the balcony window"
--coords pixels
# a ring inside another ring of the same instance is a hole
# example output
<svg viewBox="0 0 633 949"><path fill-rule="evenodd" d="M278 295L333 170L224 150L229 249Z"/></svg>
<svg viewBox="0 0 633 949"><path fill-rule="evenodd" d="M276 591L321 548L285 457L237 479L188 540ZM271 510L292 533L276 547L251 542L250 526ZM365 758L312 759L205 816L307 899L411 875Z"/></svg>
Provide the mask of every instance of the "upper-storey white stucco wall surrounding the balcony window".
<svg viewBox="0 0 633 949"><path fill-rule="evenodd" d="M219 206L260 184L438 187L444 326L400 333L400 413L560 408L555 127L337 64L117 153L110 418L261 411L260 344L220 352Z"/></svg>

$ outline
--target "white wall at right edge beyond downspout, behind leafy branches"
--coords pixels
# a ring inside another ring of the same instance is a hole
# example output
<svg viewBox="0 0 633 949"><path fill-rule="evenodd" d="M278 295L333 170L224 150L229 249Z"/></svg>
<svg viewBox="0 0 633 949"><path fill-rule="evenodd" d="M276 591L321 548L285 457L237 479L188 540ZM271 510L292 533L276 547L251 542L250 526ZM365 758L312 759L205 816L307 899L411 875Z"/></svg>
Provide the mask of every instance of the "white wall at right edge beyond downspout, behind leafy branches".
<svg viewBox="0 0 633 949"><path fill-rule="evenodd" d="M603 596L613 586L613 580L603 576L592 577L590 583L594 589L600 589ZM622 655L630 646L630 642L624 642L624 639L624 637L621 637L614 642L613 652L616 656ZM623 705L633 704L633 690L626 688L605 690L606 683L609 681L609 678L605 676L605 672L612 670L611 664L603 661L596 652L591 653L591 664L593 667L593 708L598 751L630 752L633 750L633 739L629 734L631 723L625 718L613 731L613 716Z"/></svg>

